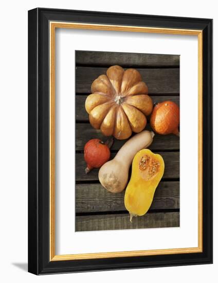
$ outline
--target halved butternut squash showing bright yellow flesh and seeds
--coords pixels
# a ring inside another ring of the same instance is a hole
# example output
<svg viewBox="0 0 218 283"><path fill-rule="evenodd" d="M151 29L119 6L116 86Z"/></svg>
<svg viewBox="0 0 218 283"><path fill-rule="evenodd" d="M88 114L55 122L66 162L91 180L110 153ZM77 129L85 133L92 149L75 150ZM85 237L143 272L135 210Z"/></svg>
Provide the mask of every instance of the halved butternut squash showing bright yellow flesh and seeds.
<svg viewBox="0 0 218 283"><path fill-rule="evenodd" d="M124 204L133 216L142 216L149 210L157 185L159 184L165 164L159 154L149 149L142 149L133 159L132 175L125 190Z"/></svg>

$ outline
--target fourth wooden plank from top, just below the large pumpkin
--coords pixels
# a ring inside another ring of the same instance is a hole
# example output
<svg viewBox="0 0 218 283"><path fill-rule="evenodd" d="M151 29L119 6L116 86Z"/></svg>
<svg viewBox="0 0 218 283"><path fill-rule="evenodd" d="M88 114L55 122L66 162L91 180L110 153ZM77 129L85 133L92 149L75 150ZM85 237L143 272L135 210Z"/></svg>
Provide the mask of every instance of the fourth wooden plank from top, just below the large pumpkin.
<svg viewBox="0 0 218 283"><path fill-rule="evenodd" d="M145 130L151 131L151 126L148 123ZM76 150L83 150L89 139L99 138L103 141L107 139L100 130L94 129L89 123L76 123ZM126 140L114 139L112 146L113 150L119 150L124 145ZM179 137L171 135L155 134L153 143L150 146L151 150L178 150Z"/></svg>

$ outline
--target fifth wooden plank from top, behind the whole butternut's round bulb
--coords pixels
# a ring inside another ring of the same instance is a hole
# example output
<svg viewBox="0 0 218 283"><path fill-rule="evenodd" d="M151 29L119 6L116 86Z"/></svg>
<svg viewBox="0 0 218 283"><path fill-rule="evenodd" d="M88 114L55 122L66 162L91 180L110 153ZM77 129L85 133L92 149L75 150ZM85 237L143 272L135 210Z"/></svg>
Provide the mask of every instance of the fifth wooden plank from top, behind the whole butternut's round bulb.
<svg viewBox="0 0 218 283"><path fill-rule="evenodd" d="M179 178L179 152L157 152L165 162L165 172L163 178ZM114 158L116 153L111 154ZM98 181L99 169L93 169L88 174L85 174L86 163L83 153L76 153L76 181Z"/></svg>

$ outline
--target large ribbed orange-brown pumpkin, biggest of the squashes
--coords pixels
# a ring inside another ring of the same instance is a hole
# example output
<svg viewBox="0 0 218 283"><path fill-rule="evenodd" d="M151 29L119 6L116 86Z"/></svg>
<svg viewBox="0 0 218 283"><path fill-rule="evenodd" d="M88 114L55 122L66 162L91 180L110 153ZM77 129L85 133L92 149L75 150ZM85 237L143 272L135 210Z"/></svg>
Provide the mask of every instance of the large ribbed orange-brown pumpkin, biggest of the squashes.
<svg viewBox="0 0 218 283"><path fill-rule="evenodd" d="M111 66L92 83L85 101L90 124L105 136L126 139L146 127L153 108L148 86L136 69Z"/></svg>

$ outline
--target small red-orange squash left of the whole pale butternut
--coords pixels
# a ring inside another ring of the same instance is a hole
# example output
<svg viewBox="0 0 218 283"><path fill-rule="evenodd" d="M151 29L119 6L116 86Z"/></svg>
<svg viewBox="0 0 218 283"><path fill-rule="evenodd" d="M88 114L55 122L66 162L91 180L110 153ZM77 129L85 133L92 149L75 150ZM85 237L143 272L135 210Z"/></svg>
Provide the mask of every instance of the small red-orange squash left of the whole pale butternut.
<svg viewBox="0 0 218 283"><path fill-rule="evenodd" d="M103 143L98 138L90 139L84 147L84 159L87 163L85 173L87 174L93 168L100 168L110 159L110 156L111 151L108 142Z"/></svg>

